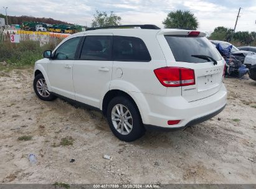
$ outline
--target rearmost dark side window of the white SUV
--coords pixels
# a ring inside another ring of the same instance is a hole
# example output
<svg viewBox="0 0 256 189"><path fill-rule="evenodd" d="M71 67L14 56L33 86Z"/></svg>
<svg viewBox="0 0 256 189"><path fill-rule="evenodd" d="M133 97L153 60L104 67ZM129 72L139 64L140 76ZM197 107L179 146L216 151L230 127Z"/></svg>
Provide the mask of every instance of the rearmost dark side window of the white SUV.
<svg viewBox="0 0 256 189"><path fill-rule="evenodd" d="M151 57L148 48L140 38L114 36L113 60L120 62L149 62Z"/></svg>

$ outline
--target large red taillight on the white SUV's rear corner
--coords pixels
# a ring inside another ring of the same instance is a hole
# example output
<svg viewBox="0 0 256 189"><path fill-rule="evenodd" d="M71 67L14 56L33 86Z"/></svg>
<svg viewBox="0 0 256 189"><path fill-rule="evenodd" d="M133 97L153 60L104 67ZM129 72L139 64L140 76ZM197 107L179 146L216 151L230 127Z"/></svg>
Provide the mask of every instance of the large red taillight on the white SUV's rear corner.
<svg viewBox="0 0 256 189"><path fill-rule="evenodd" d="M163 67L154 70L154 74L163 86L195 85L194 70L181 67Z"/></svg>

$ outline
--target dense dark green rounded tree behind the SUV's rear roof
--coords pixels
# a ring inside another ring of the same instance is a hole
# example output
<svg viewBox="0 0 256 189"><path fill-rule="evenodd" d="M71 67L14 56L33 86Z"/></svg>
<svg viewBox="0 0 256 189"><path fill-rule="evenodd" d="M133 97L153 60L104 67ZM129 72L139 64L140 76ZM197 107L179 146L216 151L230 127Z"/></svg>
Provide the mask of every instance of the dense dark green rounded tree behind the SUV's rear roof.
<svg viewBox="0 0 256 189"><path fill-rule="evenodd" d="M190 11L172 11L169 12L163 21L164 28L179 28L196 30L198 27L197 18Z"/></svg>

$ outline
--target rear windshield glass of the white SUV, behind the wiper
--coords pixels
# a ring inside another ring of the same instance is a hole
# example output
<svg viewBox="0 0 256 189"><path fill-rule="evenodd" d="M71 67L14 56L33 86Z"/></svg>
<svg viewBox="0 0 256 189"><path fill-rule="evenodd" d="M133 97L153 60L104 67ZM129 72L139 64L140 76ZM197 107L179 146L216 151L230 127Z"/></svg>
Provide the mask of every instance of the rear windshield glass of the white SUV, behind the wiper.
<svg viewBox="0 0 256 189"><path fill-rule="evenodd" d="M206 37L187 37L185 35L164 35L164 37L177 62L209 62L209 60L192 57L191 55L206 55L215 60L221 60L219 52Z"/></svg>

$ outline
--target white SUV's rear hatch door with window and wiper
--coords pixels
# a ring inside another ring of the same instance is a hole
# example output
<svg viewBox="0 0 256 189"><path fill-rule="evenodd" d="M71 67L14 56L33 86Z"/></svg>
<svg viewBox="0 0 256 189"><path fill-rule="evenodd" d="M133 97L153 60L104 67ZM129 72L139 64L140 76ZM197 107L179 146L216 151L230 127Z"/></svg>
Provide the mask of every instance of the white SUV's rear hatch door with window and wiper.
<svg viewBox="0 0 256 189"><path fill-rule="evenodd" d="M189 33L188 33L189 34ZM199 35L164 35L176 62L168 66L194 70L195 85L182 86L187 101L207 98L220 90L224 60L209 40Z"/></svg>

